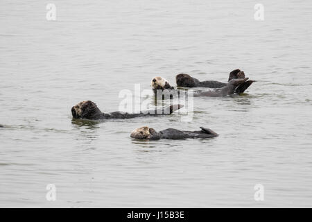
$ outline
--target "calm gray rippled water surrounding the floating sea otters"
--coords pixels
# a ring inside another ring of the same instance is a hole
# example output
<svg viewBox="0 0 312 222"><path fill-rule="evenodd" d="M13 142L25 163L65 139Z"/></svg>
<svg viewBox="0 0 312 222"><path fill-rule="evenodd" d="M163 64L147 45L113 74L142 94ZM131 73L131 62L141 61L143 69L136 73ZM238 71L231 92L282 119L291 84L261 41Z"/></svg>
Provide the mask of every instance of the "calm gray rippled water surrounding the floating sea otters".
<svg viewBox="0 0 312 222"><path fill-rule="evenodd" d="M312 207L311 11L299 0L1 0L0 206ZM84 100L118 110L122 89L150 89L154 76L225 82L237 68L257 83L194 98L189 122L71 118ZM140 126L220 136L131 139Z"/></svg>

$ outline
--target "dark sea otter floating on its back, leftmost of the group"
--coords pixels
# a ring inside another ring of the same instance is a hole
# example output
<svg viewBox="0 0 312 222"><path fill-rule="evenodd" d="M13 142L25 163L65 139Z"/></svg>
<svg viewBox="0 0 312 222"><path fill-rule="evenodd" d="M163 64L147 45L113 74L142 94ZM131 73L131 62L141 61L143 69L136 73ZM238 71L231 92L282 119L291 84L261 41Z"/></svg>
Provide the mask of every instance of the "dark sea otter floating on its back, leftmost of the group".
<svg viewBox="0 0 312 222"><path fill-rule="evenodd" d="M104 113L92 101L83 101L71 108L74 119L130 119L135 117L153 116L161 114L171 114L182 108L183 105L171 105L168 108L159 110L146 110L140 113L110 112Z"/></svg>

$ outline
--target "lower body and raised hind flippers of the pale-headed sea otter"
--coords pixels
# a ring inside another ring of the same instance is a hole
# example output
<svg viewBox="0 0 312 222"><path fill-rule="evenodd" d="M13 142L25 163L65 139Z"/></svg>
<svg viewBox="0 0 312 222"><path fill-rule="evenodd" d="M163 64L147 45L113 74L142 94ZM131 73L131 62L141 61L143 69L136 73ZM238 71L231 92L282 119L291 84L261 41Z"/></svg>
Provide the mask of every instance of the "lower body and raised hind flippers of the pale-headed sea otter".
<svg viewBox="0 0 312 222"><path fill-rule="evenodd" d="M193 96L228 96L234 94L236 92L237 88L240 88L239 90L245 90L245 87L248 87L251 83L253 83L252 80L248 81L249 78L233 78L232 80L229 80L229 83L225 85L225 87L218 88L218 89L211 89L209 91L204 92L197 92L194 93Z"/></svg>

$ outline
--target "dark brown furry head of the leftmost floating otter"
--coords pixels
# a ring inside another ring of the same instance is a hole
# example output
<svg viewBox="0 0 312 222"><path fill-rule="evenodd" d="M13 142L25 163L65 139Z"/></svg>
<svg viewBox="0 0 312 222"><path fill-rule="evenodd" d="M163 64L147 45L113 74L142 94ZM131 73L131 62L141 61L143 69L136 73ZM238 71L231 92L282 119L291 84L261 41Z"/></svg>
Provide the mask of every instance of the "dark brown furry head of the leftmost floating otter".
<svg viewBox="0 0 312 222"><path fill-rule="evenodd" d="M71 108L71 114L74 119L93 119L94 116L101 111L92 101L83 101Z"/></svg>

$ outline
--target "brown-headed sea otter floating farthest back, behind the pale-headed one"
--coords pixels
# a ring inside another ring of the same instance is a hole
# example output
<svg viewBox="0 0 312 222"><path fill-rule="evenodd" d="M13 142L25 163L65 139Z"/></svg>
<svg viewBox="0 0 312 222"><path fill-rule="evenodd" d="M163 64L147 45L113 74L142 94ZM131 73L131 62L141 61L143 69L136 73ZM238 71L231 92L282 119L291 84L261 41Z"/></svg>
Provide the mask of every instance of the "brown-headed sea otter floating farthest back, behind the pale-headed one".
<svg viewBox="0 0 312 222"><path fill-rule="evenodd" d="M245 78L245 73L240 69L235 69L229 73L229 80L234 78ZM178 87L209 87L209 88L221 88L227 86L227 83L221 83L218 81L207 80L202 81L197 78L191 77L189 74L178 74L175 76L175 81ZM242 85L237 86L235 89L236 94L241 94L247 89L254 81L250 80Z"/></svg>

